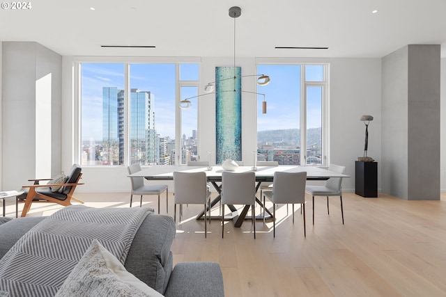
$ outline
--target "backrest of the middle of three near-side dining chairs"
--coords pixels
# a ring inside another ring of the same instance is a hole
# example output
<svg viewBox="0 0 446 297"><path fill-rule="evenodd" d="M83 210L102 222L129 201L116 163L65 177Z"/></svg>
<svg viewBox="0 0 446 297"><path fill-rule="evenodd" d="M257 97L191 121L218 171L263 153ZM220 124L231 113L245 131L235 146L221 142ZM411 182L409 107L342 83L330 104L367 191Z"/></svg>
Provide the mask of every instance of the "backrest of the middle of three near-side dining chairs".
<svg viewBox="0 0 446 297"><path fill-rule="evenodd" d="M247 172L222 172L222 204L254 204L256 175Z"/></svg>

